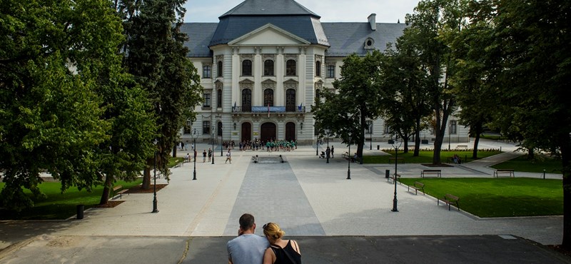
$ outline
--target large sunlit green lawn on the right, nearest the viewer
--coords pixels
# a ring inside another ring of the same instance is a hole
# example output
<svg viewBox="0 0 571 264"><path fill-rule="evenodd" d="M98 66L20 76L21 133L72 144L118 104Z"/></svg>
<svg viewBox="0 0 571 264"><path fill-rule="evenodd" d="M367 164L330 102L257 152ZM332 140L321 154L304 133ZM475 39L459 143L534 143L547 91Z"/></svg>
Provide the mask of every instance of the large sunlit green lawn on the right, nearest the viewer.
<svg viewBox="0 0 571 264"><path fill-rule="evenodd" d="M427 195L460 198L460 210L484 218L562 215L561 180L537 178L403 178L403 184L425 184ZM419 193L419 195L422 195Z"/></svg>

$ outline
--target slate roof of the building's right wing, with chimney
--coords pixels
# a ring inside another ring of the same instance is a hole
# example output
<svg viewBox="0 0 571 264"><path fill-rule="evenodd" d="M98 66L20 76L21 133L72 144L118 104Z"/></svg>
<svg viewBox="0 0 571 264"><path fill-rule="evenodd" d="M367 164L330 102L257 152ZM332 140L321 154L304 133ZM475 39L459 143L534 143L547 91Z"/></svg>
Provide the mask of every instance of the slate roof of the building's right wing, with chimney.
<svg viewBox="0 0 571 264"><path fill-rule="evenodd" d="M403 35L405 24L377 23L377 30L370 29L368 23L321 23L330 48L325 56L349 56L356 53L364 56L365 40L373 39L375 49L385 51L388 43L395 44L398 37ZM394 45L393 45L394 48Z"/></svg>

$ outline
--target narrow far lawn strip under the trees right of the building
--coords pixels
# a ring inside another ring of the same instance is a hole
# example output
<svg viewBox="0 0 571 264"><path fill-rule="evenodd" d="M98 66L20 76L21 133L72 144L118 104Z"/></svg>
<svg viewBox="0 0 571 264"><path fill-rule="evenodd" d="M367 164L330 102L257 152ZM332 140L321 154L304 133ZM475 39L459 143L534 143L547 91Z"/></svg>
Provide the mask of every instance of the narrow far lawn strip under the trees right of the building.
<svg viewBox="0 0 571 264"><path fill-rule="evenodd" d="M390 156L363 156L363 163L389 163L388 158L395 157L394 150L385 150L385 152L389 153ZM405 163L432 163L433 162L433 153L434 151L419 151L418 157L414 157L414 151L408 151L408 153L403 153L401 151L398 152L399 158L404 158ZM489 156L493 156L496 154L501 153L500 151L478 151L477 157L478 158L486 158ZM458 155L463 162L466 161L473 161L472 158L472 151L442 151L440 152L440 161L443 163L447 162L449 157L454 156L454 154ZM395 163L391 161L391 163Z"/></svg>

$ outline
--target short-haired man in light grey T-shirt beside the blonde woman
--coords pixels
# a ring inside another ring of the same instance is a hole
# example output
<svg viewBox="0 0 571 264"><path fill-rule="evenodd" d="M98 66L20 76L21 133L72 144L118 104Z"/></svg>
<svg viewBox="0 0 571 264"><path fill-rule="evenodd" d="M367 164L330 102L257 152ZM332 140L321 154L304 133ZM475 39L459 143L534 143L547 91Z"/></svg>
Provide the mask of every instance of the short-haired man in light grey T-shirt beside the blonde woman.
<svg viewBox="0 0 571 264"><path fill-rule="evenodd" d="M240 217L239 223L238 237L226 243L228 263L262 263L264 252L270 246L270 243L266 238L254 234L256 221L253 215L244 213Z"/></svg>

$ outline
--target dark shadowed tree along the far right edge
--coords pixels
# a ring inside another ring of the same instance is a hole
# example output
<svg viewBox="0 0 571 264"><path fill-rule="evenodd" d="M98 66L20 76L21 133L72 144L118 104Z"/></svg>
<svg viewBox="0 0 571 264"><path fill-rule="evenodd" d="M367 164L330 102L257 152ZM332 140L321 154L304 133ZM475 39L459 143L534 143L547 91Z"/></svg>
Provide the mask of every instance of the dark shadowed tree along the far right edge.
<svg viewBox="0 0 571 264"><path fill-rule="evenodd" d="M571 248L571 2L489 0L475 3L489 19L492 41L485 47L500 58L495 73L494 123L527 146L561 157L563 240ZM484 58L487 64L497 60Z"/></svg>

